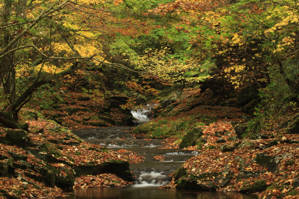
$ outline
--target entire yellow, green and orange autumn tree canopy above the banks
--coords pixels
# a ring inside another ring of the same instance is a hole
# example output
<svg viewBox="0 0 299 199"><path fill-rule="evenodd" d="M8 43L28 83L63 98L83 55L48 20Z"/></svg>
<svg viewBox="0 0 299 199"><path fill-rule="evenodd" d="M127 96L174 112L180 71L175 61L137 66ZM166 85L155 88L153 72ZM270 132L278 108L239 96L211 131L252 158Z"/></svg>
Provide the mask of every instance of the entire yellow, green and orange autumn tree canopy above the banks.
<svg viewBox="0 0 299 199"><path fill-rule="evenodd" d="M1 1L0 123L26 129L16 122L29 100L82 88L134 99L171 85L225 94L256 84L261 108L294 107L282 100L299 92L298 5Z"/></svg>

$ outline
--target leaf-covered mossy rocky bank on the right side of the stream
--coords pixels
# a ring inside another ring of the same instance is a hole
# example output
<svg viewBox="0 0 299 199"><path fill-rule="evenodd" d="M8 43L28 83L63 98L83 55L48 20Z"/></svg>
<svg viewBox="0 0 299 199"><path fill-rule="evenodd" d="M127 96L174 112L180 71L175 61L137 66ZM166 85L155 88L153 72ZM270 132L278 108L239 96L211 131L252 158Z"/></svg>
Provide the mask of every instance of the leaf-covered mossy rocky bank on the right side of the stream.
<svg viewBox="0 0 299 199"><path fill-rule="evenodd" d="M231 103L236 99L217 100L221 99L190 93L133 130L152 138L176 137L173 145L199 151L164 188L252 193L263 199L299 198L296 111L281 117L252 117Z"/></svg>

